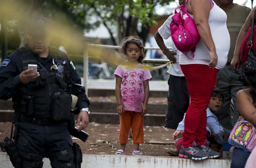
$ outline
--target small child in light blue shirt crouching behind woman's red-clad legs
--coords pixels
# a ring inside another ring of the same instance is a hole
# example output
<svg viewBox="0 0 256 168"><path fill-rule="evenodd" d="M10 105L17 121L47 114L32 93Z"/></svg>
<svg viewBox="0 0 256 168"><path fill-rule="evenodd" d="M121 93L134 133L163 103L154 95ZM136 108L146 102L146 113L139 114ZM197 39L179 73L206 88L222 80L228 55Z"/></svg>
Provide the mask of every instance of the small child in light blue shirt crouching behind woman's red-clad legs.
<svg viewBox="0 0 256 168"><path fill-rule="evenodd" d="M222 91L219 88L214 88L212 92L212 97L210 99L210 103L208 104L208 108L206 109L206 129L207 129L207 140L204 148L200 148L201 150L208 150L209 158L218 158L220 157L219 152L215 152L211 150L208 146L209 142L218 149L222 147L224 130L220 123L218 122L217 117L214 115L222 106L222 102L224 100L224 96ZM185 114L186 115L186 114ZM180 147L182 145L183 137L182 133L184 131L184 119L179 123L177 130L173 133L172 138L175 139L176 150L168 150L169 154L178 156L180 151ZM181 137L181 138L180 138Z"/></svg>

